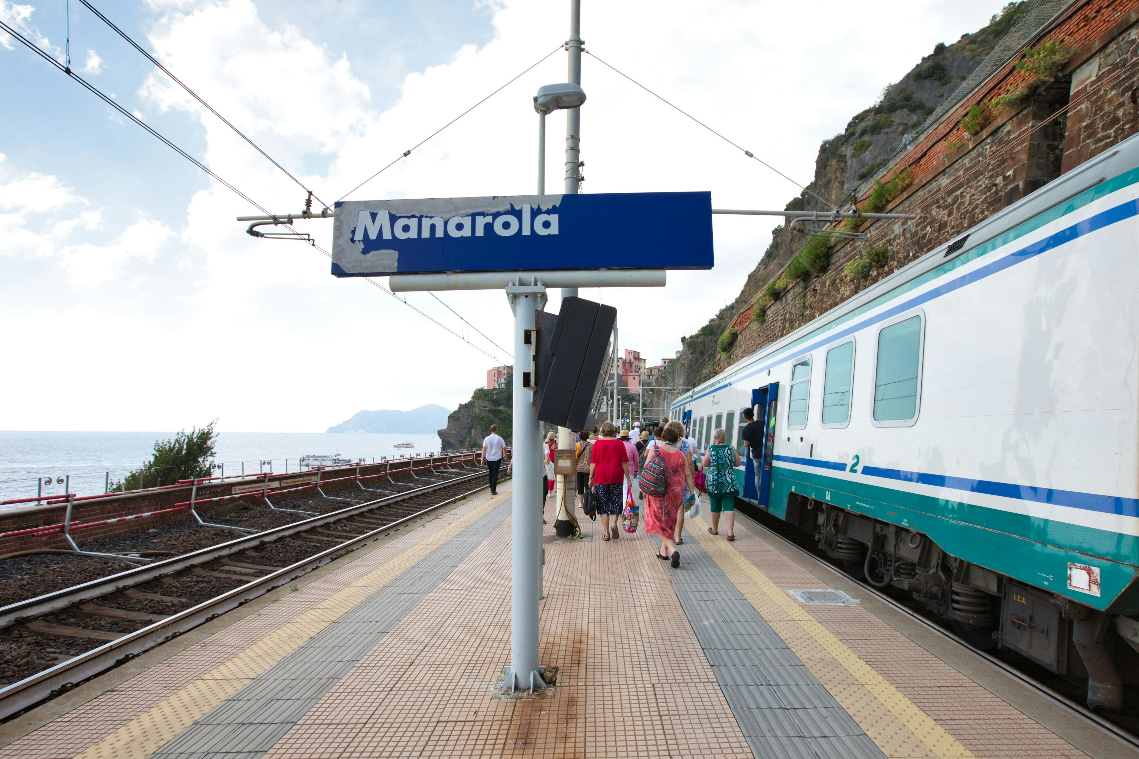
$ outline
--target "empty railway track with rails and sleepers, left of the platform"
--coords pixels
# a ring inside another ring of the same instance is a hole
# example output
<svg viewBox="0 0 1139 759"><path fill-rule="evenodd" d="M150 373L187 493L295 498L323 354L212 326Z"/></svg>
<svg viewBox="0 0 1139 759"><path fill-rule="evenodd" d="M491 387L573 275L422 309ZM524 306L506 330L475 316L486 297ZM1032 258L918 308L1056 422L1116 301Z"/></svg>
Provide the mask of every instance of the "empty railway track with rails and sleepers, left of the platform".
<svg viewBox="0 0 1139 759"><path fill-rule="evenodd" d="M486 488L482 471L446 475L362 502L341 490L325 498L351 505L0 608L0 653L18 641L23 670L39 667L0 686L0 721Z"/></svg>

